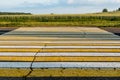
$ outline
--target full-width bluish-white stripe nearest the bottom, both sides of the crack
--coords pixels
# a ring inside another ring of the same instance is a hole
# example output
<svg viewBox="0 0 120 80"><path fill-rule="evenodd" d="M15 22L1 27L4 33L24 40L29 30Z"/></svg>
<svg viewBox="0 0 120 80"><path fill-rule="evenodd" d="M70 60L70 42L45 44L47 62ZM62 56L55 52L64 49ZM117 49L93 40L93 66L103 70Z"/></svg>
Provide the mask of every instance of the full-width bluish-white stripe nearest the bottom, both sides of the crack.
<svg viewBox="0 0 120 80"><path fill-rule="evenodd" d="M0 62L0 68L30 68L31 62ZM120 68L120 62L34 62L32 68Z"/></svg>

